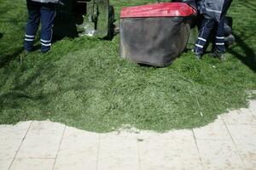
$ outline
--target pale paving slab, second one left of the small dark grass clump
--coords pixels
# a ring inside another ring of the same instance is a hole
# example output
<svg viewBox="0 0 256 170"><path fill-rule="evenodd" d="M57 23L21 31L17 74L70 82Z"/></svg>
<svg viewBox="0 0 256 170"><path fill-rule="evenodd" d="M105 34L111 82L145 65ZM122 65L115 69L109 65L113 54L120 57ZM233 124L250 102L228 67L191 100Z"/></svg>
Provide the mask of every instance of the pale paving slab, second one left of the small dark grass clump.
<svg viewBox="0 0 256 170"><path fill-rule="evenodd" d="M70 138L63 138L55 162L55 170L96 170L97 153L99 146L98 133L80 132L69 128ZM66 132L66 131L65 131Z"/></svg>

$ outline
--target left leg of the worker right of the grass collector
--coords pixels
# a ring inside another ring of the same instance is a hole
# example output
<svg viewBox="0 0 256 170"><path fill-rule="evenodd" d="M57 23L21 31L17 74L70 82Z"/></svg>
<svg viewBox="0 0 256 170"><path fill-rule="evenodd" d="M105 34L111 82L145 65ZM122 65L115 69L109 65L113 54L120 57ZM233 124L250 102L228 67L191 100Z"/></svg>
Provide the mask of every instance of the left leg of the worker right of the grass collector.
<svg viewBox="0 0 256 170"><path fill-rule="evenodd" d="M197 41L195 42L195 48L194 48L194 52L196 55L202 55L204 53L204 48L207 44L207 40L215 24L216 24L215 20L204 18L201 21L199 36L197 38Z"/></svg>

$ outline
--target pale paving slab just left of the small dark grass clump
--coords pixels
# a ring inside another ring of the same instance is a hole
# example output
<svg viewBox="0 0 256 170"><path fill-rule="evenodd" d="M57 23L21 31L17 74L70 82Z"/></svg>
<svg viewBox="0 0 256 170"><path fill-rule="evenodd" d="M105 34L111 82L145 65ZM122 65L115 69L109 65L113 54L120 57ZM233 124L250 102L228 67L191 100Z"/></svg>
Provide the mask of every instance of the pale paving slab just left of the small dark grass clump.
<svg viewBox="0 0 256 170"><path fill-rule="evenodd" d="M137 134L124 132L121 132L119 134L101 134L97 169L139 169Z"/></svg>

